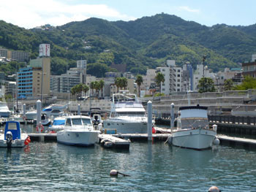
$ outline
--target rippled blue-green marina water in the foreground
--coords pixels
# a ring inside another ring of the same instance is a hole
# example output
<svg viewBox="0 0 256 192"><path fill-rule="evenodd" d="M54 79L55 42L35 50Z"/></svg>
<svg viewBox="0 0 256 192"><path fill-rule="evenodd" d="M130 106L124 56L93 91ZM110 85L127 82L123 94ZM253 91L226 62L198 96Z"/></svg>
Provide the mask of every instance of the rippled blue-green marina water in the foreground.
<svg viewBox="0 0 256 192"><path fill-rule="evenodd" d="M27 126L29 131L33 130ZM0 149L1 191L256 191L256 152L132 142L129 150L31 142ZM110 177L110 170L131 177Z"/></svg>

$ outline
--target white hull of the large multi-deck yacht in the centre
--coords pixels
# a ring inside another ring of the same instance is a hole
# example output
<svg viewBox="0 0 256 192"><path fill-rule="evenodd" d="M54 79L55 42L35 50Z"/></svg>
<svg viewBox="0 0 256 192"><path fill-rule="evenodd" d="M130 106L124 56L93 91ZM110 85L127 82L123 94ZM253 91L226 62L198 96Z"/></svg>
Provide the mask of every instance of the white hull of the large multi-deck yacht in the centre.
<svg viewBox="0 0 256 192"><path fill-rule="evenodd" d="M108 130L116 130L121 134L146 134L148 133L148 123L146 121L135 120L105 120L103 128Z"/></svg>

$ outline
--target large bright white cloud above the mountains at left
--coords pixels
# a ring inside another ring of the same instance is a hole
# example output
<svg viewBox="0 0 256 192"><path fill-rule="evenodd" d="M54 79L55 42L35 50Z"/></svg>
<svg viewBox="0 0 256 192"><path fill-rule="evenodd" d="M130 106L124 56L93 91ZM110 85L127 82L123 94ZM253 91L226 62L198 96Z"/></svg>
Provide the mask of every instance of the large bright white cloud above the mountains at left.
<svg viewBox="0 0 256 192"><path fill-rule="evenodd" d="M34 28L47 23L61 26L71 21L86 20L91 17L135 20L105 4L67 4L58 0L8 0L0 4L1 20L25 28Z"/></svg>

